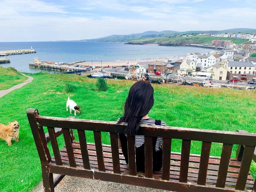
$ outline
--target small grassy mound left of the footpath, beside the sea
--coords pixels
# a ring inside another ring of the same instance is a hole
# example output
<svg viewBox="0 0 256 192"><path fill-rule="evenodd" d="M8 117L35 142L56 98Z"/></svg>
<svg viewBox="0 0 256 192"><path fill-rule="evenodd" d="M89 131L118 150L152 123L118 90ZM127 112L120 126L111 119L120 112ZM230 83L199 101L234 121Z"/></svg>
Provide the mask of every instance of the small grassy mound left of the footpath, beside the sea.
<svg viewBox="0 0 256 192"><path fill-rule="evenodd" d="M21 75L12 68L4 68L0 66L0 90L9 89L10 87L23 83L27 77Z"/></svg>

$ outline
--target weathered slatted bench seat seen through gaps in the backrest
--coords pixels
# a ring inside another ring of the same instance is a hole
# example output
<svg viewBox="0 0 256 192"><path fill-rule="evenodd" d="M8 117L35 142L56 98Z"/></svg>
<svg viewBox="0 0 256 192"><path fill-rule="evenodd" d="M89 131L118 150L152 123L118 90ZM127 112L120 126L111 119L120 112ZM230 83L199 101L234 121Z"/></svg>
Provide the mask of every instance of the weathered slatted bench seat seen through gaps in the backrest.
<svg viewBox="0 0 256 192"><path fill-rule="evenodd" d="M72 143L75 162L77 167L83 168L83 160L81 155L80 144L77 141ZM97 154L94 143L87 143L88 155L90 160L91 169L94 172L98 170L98 162L97 162ZM104 164L106 172L113 172L113 163L112 163L112 155L111 155L111 145L102 145L103 155L104 155ZM69 165L67 149L66 147L60 150L61 160L63 165ZM121 148L119 148L119 158L120 158L120 171L121 174L128 175L129 174L129 166L126 164L124 156L122 154ZM54 156L51 158L52 163L50 165L55 166L55 158ZM179 182L179 171L180 171L180 161L181 161L181 153L171 152L170 158L170 181ZM189 157L189 168L188 168L188 182L191 184L197 183L198 171L199 171L199 163L200 163L200 155L190 154ZM206 186L214 187L217 182L218 170L220 164L220 157L210 156L208 171L207 171L207 179ZM234 189L236 187L236 182L238 178L238 173L240 171L241 162L237 161L236 158L231 158L228 168L228 174L226 178L225 188ZM137 176L144 177L144 173L137 172ZM155 179L162 180L162 170L153 173L153 177ZM253 188L254 179L249 174L245 186L245 191L250 191ZM170 189L171 190L171 189Z"/></svg>

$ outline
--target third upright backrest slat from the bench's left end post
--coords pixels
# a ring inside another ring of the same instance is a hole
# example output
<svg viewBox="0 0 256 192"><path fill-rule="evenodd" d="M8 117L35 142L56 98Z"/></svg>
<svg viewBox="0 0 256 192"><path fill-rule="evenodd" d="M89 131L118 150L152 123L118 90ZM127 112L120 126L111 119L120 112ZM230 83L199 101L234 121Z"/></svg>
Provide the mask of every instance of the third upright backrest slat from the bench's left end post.
<svg viewBox="0 0 256 192"><path fill-rule="evenodd" d="M85 169L90 169L90 163L89 163L89 156L88 156L88 149L87 149L87 143L86 143L86 136L84 130L77 130L78 138L81 147L81 155L83 158L83 165Z"/></svg>

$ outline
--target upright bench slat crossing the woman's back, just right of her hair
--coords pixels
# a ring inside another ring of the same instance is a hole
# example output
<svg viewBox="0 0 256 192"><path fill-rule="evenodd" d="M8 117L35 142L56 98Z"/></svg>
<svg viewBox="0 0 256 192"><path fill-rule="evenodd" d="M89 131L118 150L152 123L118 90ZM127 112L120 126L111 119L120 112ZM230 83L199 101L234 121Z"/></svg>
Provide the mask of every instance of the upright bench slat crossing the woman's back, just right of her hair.
<svg viewBox="0 0 256 192"><path fill-rule="evenodd" d="M152 178L153 176L153 140L152 137L145 136L145 176Z"/></svg>

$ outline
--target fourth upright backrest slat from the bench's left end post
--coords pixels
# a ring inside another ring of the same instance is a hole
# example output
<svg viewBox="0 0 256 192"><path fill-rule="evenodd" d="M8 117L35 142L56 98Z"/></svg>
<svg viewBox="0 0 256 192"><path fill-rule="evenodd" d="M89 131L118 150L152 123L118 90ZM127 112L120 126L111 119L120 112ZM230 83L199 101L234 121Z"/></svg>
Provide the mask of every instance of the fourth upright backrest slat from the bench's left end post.
<svg viewBox="0 0 256 192"><path fill-rule="evenodd" d="M99 170L105 172L104 156L103 156L102 141L101 141L101 132L93 131L93 135L94 135Z"/></svg>

